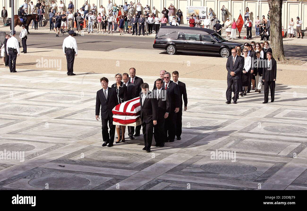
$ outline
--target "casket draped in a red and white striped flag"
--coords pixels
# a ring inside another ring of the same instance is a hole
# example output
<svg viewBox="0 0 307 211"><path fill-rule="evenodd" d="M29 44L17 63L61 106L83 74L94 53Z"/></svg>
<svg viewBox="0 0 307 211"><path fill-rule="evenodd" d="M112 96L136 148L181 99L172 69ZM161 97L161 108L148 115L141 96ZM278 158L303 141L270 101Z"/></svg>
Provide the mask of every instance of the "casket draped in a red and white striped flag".
<svg viewBox="0 0 307 211"><path fill-rule="evenodd" d="M138 126L141 124L140 111L140 97L118 104L112 109L113 124Z"/></svg>

